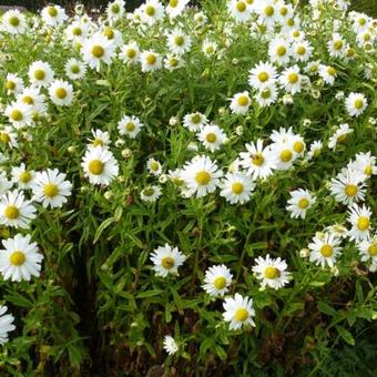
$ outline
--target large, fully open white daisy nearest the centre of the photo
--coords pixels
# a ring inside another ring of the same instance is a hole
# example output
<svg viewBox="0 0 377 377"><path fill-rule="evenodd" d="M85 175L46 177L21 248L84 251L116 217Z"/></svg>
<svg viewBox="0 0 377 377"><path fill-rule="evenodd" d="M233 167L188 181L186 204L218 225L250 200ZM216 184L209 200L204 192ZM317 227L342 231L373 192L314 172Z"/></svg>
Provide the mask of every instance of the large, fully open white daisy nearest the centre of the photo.
<svg viewBox="0 0 377 377"><path fill-rule="evenodd" d="M196 194L196 197L202 197L216 190L222 175L216 162L212 162L205 155L197 155L186 163L181 177L192 195Z"/></svg>

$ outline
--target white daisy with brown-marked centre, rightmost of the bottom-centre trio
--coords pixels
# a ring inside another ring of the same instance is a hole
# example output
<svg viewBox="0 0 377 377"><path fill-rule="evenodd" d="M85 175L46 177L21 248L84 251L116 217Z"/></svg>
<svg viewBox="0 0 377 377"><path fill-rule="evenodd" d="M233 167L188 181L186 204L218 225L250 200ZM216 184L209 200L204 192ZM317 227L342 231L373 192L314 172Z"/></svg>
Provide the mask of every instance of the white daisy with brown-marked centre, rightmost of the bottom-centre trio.
<svg viewBox="0 0 377 377"><path fill-rule="evenodd" d="M281 257L271 258L269 254L265 258L262 256L255 259L256 265L253 267L253 272L256 274L257 279L262 281L262 287L268 286L274 289L284 287L289 283L289 273L287 264Z"/></svg>

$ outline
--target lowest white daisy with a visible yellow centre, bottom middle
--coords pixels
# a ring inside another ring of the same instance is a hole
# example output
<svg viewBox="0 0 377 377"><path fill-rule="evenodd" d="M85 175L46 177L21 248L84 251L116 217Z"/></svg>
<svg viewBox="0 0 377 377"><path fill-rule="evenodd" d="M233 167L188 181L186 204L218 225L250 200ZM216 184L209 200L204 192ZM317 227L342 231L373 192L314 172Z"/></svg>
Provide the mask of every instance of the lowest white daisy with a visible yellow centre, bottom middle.
<svg viewBox="0 0 377 377"><path fill-rule="evenodd" d="M225 313L223 313L223 317L224 320L231 323L231 330L240 329L244 325L251 325L255 327L255 323L252 318L255 316L252 298L243 297L236 293L234 298L226 297L223 306L225 310Z"/></svg>

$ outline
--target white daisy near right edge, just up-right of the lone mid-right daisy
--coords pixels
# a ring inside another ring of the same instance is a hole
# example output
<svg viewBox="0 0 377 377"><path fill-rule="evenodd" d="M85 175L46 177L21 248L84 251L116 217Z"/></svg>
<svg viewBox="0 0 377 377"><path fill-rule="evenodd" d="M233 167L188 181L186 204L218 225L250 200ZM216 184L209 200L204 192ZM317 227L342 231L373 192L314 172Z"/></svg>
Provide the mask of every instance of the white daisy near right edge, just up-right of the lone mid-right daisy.
<svg viewBox="0 0 377 377"><path fill-rule="evenodd" d="M337 202L346 205L364 201L365 187L364 176L349 169L342 171L330 183L332 195Z"/></svg>

